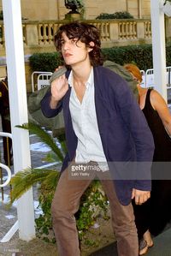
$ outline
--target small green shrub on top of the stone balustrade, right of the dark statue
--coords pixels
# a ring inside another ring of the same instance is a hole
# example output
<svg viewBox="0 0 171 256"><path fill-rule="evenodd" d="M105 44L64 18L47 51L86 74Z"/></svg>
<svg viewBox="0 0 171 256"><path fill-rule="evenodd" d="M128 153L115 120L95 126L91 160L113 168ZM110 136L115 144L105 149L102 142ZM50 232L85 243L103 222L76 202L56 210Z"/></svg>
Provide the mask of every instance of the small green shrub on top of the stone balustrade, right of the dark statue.
<svg viewBox="0 0 171 256"><path fill-rule="evenodd" d="M102 13L96 17L96 20L112 20L112 19L134 19L134 17L127 11L115 12L115 14Z"/></svg>

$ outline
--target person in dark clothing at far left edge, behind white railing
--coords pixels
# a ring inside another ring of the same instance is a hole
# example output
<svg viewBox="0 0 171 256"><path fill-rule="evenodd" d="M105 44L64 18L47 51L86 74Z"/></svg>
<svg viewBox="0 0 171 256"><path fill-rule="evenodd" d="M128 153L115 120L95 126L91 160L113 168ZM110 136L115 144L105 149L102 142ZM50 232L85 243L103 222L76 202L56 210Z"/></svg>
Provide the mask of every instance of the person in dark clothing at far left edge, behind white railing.
<svg viewBox="0 0 171 256"><path fill-rule="evenodd" d="M4 133L11 133L10 114L9 114L9 87L8 78L0 81L0 115ZM12 140L3 137L3 159L6 165L13 164Z"/></svg>

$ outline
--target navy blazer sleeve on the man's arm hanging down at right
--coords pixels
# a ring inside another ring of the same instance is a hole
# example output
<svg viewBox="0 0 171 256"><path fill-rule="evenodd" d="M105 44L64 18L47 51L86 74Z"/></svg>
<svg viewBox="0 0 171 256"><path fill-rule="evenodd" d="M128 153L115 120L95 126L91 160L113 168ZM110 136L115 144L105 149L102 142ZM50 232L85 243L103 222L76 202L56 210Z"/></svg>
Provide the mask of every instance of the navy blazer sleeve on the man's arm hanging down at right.
<svg viewBox="0 0 171 256"><path fill-rule="evenodd" d="M120 85L116 86L114 94L123 122L130 131L135 146L137 167L134 188L150 190L150 168L155 148L153 136L127 82L120 80Z"/></svg>

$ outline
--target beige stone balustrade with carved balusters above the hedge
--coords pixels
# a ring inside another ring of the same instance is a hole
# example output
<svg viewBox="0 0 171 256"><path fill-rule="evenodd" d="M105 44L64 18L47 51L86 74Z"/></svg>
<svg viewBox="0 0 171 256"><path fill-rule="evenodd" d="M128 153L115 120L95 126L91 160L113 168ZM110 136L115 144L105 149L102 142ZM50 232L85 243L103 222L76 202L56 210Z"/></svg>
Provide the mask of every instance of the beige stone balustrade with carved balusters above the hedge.
<svg viewBox="0 0 171 256"><path fill-rule="evenodd" d="M23 21L25 55L55 51L53 37L58 27L68 21ZM88 20L98 27L102 47L151 43L150 20ZM0 55L5 56L4 27L0 21Z"/></svg>

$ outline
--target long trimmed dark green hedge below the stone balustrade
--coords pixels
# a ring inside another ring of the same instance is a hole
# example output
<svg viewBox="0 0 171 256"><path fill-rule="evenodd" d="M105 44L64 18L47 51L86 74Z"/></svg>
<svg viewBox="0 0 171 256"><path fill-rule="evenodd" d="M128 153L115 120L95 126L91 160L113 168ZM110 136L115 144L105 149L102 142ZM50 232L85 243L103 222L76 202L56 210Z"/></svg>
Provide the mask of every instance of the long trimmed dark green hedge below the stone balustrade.
<svg viewBox="0 0 171 256"><path fill-rule="evenodd" d="M152 45L127 45L112 48L103 48L105 60L124 65L125 63L135 63L140 69L153 68ZM171 45L166 46L167 66L171 66ZM55 53L36 53L30 57L32 71L50 71L62 64L60 56Z"/></svg>

